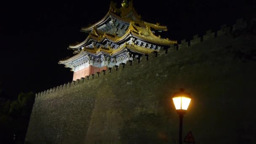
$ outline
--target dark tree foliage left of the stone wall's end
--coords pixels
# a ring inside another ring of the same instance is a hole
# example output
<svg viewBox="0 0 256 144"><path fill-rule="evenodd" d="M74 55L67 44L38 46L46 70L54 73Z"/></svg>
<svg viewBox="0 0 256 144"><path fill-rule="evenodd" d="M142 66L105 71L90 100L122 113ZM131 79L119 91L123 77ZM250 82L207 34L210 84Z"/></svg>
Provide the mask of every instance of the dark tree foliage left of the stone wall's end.
<svg viewBox="0 0 256 144"><path fill-rule="evenodd" d="M0 101L0 143L24 141L34 101L32 92L20 93L14 101Z"/></svg>

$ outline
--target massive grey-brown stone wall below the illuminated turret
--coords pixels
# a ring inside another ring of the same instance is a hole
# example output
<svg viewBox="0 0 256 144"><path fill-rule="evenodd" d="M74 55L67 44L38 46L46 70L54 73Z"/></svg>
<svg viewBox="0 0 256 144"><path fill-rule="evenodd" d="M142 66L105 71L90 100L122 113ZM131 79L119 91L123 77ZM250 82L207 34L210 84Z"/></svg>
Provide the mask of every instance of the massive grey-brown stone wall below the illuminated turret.
<svg viewBox="0 0 256 144"><path fill-rule="evenodd" d="M170 96L185 88L193 99L184 136L192 131L197 144L256 143L256 36L246 24L37 93L26 141L177 144Z"/></svg>

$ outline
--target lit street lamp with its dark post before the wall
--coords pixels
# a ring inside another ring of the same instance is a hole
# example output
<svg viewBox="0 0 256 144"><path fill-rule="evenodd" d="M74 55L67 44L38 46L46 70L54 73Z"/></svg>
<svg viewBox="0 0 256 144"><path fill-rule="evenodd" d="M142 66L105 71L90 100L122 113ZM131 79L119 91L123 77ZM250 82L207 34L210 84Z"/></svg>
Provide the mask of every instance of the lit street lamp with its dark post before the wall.
<svg viewBox="0 0 256 144"><path fill-rule="evenodd" d="M184 92L184 89L181 88L179 92L173 94L172 99L176 111L179 114L179 144L182 144L183 115L187 112L187 108L189 107L189 103L191 101L191 95Z"/></svg>

